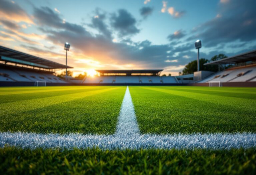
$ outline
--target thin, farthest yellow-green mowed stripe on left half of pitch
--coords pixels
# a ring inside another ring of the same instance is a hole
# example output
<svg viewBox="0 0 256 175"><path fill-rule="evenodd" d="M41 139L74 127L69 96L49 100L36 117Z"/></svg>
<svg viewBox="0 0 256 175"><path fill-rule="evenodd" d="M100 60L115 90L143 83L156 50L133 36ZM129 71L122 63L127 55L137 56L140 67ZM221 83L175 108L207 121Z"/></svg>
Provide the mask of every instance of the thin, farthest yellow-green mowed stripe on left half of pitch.
<svg viewBox="0 0 256 175"><path fill-rule="evenodd" d="M30 93L46 93L46 92L56 92L56 91L69 91L69 90L86 90L86 89L102 89L100 86L68 86L63 87L63 86L55 86L54 88L50 88L49 86L46 87L33 87L29 89L24 89L24 90L9 90L9 91L0 91L0 97L2 95L16 95L16 94L30 94Z"/></svg>

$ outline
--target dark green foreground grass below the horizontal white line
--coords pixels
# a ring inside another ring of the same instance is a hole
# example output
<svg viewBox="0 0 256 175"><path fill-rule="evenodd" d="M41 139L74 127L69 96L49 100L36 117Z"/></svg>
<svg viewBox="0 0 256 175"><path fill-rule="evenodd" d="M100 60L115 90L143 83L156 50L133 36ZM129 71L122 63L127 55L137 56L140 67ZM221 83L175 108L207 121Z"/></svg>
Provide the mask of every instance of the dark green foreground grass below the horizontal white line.
<svg viewBox="0 0 256 175"><path fill-rule="evenodd" d="M1 174L255 174L256 150L0 148Z"/></svg>

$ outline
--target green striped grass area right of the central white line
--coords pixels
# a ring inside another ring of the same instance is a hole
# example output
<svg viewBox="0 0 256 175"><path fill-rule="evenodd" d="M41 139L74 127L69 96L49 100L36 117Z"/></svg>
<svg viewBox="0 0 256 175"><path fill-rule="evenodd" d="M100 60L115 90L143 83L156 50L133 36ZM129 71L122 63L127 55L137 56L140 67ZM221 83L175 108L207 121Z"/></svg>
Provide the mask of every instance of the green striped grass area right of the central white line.
<svg viewBox="0 0 256 175"><path fill-rule="evenodd" d="M130 87L142 133L256 132L256 88Z"/></svg>

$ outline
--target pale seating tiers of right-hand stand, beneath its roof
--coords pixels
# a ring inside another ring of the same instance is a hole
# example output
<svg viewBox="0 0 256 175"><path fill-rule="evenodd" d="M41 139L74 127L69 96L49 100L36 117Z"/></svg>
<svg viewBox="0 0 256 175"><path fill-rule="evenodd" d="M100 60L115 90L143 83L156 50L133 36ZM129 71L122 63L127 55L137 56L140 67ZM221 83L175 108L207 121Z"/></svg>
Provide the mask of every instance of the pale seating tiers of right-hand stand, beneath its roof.
<svg viewBox="0 0 256 175"><path fill-rule="evenodd" d="M206 83L210 81L220 82L247 82L256 81L256 67L245 67L238 69L224 70L217 72L198 83Z"/></svg>

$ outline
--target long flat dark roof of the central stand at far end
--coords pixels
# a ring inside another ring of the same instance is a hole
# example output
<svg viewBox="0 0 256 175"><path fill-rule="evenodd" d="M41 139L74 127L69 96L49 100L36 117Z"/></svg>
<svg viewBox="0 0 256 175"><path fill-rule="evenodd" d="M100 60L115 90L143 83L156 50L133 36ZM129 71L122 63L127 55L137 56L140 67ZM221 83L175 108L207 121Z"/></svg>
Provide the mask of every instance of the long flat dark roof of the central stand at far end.
<svg viewBox="0 0 256 175"><path fill-rule="evenodd" d="M159 75L163 69L144 70L96 70L100 75Z"/></svg>

